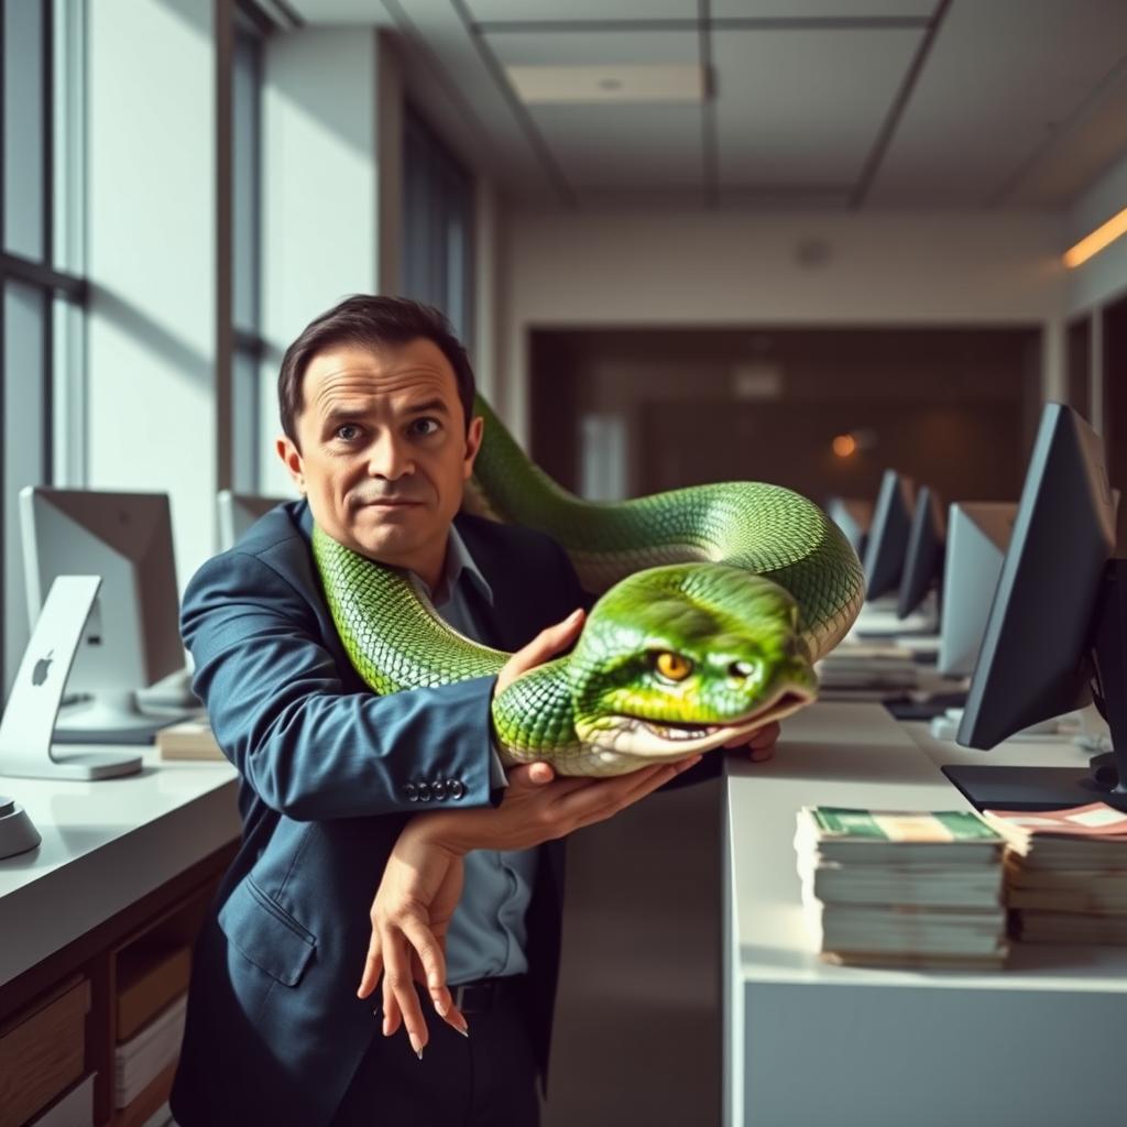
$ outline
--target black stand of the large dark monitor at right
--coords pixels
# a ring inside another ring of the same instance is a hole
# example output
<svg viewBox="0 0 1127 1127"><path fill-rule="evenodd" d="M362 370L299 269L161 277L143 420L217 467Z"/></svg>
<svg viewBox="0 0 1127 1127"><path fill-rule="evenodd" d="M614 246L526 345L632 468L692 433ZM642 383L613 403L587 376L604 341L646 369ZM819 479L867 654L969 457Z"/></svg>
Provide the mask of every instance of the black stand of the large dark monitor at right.
<svg viewBox="0 0 1127 1127"><path fill-rule="evenodd" d="M1106 802L1127 810L1127 559L1108 561L1093 615L1095 707L1113 751L1075 767L947 766L943 774L979 810L1061 810Z"/></svg>

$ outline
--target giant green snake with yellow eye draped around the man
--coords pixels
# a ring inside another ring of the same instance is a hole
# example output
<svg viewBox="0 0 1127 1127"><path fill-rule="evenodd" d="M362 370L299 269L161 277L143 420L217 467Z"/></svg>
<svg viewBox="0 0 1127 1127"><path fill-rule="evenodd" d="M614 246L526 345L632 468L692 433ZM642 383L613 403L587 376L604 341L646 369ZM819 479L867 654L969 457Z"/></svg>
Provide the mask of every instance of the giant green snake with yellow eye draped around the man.
<svg viewBox="0 0 1127 1127"><path fill-rule="evenodd" d="M548 533L603 593L569 655L494 696L506 765L625 774L814 700L814 662L862 601L857 553L820 508L762 482L586 502L533 464L481 397L476 409L485 436L467 507ZM494 675L508 659L446 625L409 573L319 527L313 554L345 650L378 693Z"/></svg>

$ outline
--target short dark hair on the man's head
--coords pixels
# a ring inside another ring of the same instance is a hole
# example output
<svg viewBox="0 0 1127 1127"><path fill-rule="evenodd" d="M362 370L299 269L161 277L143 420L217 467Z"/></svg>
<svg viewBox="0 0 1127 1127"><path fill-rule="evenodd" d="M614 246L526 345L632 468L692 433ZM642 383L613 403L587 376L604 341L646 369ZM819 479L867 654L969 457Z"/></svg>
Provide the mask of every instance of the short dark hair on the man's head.
<svg viewBox="0 0 1127 1127"><path fill-rule="evenodd" d="M310 361L318 353L349 345L379 350L419 339L433 340L450 361L465 426L469 427L473 417L473 369L450 321L432 305L408 298L376 298L357 293L310 321L282 357L278 411L286 437L301 447L296 427L302 408L301 383Z"/></svg>

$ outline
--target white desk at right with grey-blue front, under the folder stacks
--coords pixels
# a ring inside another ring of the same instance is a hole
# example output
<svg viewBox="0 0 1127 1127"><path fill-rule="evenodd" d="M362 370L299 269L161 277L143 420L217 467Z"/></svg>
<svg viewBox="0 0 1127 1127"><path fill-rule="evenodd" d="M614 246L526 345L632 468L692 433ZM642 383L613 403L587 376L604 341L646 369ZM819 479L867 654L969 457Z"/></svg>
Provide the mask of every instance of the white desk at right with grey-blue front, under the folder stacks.
<svg viewBox="0 0 1127 1127"><path fill-rule="evenodd" d="M987 755L925 751L929 740L925 726L900 725L880 704L818 703L783 725L772 762L728 760L729 1127L1127 1118L1118 1083L1127 950L1018 944L1009 969L976 974L833 967L814 953L792 845L800 806L967 808L938 764L1041 762L1022 746ZM1058 762L1083 764L1083 753L1055 743Z"/></svg>

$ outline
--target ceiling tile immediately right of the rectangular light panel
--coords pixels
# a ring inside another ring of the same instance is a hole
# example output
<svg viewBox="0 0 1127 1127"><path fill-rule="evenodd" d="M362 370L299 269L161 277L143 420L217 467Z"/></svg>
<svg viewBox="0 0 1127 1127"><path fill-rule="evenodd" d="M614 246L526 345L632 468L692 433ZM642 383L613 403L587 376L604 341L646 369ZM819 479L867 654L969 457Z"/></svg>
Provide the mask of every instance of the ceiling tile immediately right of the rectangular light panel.
<svg viewBox="0 0 1127 1127"><path fill-rule="evenodd" d="M721 187L853 184L922 35L715 34Z"/></svg>

